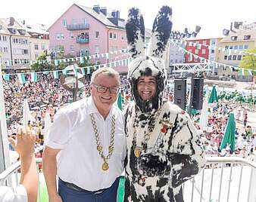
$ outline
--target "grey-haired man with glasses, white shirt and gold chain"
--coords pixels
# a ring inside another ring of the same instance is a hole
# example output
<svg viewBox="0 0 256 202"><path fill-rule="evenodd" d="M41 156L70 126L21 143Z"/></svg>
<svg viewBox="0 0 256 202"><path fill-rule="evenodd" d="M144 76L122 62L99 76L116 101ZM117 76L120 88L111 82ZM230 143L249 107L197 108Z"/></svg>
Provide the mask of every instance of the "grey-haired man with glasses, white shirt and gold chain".
<svg viewBox="0 0 256 202"><path fill-rule="evenodd" d="M123 113L113 105L119 87L118 72L98 69L92 96L55 115L42 159L49 202L116 201L126 156Z"/></svg>

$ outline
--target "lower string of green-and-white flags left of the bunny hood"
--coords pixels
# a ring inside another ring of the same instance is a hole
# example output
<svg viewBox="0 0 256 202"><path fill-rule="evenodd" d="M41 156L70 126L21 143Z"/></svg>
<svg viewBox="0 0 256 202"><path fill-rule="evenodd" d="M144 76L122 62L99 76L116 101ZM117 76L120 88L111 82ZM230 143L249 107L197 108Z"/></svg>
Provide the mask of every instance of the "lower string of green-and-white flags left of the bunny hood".
<svg viewBox="0 0 256 202"><path fill-rule="evenodd" d="M99 69L101 67L114 68L117 66L128 66L128 64L131 61L132 61L132 57L129 57L126 59L115 60L110 63L98 64L98 65L93 65L93 66L84 66L84 67L77 66L77 68L75 68L75 66L73 66L74 67L73 72L75 73L75 76L77 76L77 73L78 73L77 70L80 69L80 71L82 72L82 75L89 75L92 73L92 71L95 71L96 69ZM20 84L25 84L27 82L25 75L30 75L30 81L36 82L38 74L46 75L48 73L51 73L55 79L58 79L61 72L64 75L67 74L66 69L57 69L57 70L53 70L53 71L43 71L43 72L13 73L13 74L5 74L5 75L0 74L0 76L2 76L5 81L10 81L10 75L17 75L17 78L20 81Z"/></svg>

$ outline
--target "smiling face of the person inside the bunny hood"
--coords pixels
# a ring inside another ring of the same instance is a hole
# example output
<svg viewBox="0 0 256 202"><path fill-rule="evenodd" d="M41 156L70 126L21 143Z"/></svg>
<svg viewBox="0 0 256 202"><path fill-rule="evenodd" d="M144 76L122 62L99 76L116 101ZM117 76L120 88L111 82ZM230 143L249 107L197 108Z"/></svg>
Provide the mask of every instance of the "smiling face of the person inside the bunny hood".
<svg viewBox="0 0 256 202"><path fill-rule="evenodd" d="M141 76L137 84L139 96L143 99L151 99L157 90L157 81L153 76Z"/></svg>

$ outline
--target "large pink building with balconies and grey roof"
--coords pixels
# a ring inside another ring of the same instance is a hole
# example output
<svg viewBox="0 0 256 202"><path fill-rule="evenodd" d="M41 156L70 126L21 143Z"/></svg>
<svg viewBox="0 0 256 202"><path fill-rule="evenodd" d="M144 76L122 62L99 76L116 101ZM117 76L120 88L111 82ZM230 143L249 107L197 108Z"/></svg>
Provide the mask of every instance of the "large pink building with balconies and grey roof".
<svg viewBox="0 0 256 202"><path fill-rule="evenodd" d="M64 54L74 57L99 54L91 63L110 63L126 58L120 50L126 49L125 22L120 19L120 11L108 14L107 8L95 5L88 8L73 4L48 29L50 47L55 57ZM118 51L116 51L118 50ZM101 54L109 57L101 57ZM127 72L127 66L113 66L118 72Z"/></svg>

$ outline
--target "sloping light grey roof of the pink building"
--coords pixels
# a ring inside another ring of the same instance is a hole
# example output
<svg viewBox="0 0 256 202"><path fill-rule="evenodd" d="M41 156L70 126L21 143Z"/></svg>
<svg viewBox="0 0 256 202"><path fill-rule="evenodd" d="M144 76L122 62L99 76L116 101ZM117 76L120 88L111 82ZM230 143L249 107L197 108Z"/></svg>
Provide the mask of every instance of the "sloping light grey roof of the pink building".
<svg viewBox="0 0 256 202"><path fill-rule="evenodd" d="M76 4L75 4L76 5ZM114 25L113 23L111 23L110 20L108 20L108 17L111 17L111 15L107 14L107 16L105 16L105 14L102 14L101 12L97 13L96 11L94 11L92 8L83 6L83 5L76 5L79 8L81 8L83 11L86 11L86 13L88 13L89 15L91 15L92 17L94 17L96 20L100 21L101 23L105 24L105 26L114 26L117 27L116 25Z"/></svg>

